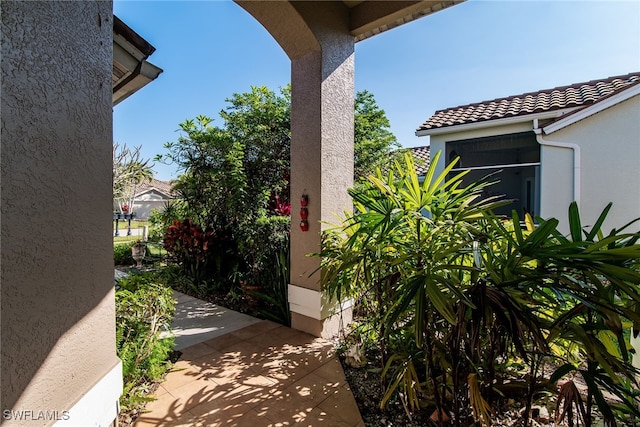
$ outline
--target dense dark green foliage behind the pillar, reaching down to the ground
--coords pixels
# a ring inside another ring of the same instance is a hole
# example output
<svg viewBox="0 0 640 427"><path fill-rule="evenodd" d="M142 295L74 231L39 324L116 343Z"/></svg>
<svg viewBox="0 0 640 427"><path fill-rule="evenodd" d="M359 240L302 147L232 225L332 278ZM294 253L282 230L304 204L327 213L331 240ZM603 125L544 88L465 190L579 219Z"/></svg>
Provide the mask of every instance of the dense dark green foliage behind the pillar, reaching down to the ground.
<svg viewBox="0 0 640 427"><path fill-rule="evenodd" d="M182 135L156 158L183 174L174 187L178 200L152 217L152 235L164 234L193 281L190 292L237 295L240 281L260 285L269 312L288 323L289 261L280 254L289 245L290 88L252 87L227 102L222 126L203 115L186 120ZM398 145L370 93L357 94L355 120L356 174L366 175ZM190 221L190 231L175 235L176 220Z"/></svg>

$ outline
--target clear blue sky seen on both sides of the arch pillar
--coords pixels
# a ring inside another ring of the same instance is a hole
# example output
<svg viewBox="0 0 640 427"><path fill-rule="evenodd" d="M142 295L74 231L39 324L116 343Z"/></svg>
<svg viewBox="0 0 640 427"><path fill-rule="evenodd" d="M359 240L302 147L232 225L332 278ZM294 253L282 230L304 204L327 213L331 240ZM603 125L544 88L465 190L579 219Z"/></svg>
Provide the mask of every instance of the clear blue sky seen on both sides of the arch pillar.
<svg viewBox="0 0 640 427"><path fill-rule="evenodd" d="M164 153L178 124L222 125L225 98L290 81L267 31L231 1L114 1L156 47L160 77L114 107L114 141ZM356 44L356 89L372 92L405 147L436 110L640 71L640 1L470 0ZM156 178L174 166L156 164Z"/></svg>

